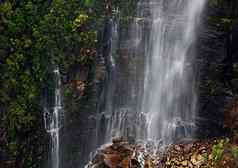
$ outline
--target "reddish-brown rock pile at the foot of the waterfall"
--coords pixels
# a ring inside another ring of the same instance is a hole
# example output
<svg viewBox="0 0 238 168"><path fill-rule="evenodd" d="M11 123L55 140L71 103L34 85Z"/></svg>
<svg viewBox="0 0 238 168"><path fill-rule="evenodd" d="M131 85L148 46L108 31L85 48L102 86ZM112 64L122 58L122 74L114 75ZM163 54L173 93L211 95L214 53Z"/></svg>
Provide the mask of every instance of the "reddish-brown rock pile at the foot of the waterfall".
<svg viewBox="0 0 238 168"><path fill-rule="evenodd" d="M238 168L238 146L226 139L174 144L163 151L153 151L152 146L115 138L88 168Z"/></svg>

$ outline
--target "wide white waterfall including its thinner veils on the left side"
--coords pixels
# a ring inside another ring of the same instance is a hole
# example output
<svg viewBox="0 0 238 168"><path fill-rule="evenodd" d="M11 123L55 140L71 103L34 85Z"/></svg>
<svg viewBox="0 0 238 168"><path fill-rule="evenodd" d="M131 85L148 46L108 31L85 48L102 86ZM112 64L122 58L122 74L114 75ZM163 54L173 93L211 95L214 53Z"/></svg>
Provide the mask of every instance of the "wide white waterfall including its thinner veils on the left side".
<svg viewBox="0 0 238 168"><path fill-rule="evenodd" d="M193 136L193 48L204 4L205 0L140 0L126 33L110 20L104 99L96 116L97 147L114 136L163 144Z"/></svg>

